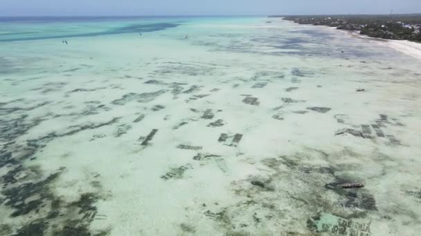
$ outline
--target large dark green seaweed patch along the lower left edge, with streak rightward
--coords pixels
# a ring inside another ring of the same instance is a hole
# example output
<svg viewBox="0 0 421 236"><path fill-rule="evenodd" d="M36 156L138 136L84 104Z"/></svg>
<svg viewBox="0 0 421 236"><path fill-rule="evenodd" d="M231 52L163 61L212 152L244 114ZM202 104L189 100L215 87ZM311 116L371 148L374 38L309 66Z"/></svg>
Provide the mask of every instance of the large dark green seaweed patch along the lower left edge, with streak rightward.
<svg viewBox="0 0 421 236"><path fill-rule="evenodd" d="M26 115L22 116L21 120L26 119L26 117ZM15 235L44 235L46 233L46 228L48 228L46 219L58 220L58 224L62 222L62 215L60 215L60 199L55 197L50 191L51 184L60 173L49 175L42 181L34 180L37 178L28 177L30 177L30 175L37 175L37 177L40 177L41 173L39 173L36 168L24 167L21 164L22 161L35 158L34 155L37 151L46 146L48 141L57 137L74 135L83 130L96 129L114 124L118 119L119 118L114 118L111 119L111 121L99 124L91 123L79 126L69 126L64 132L51 132L44 137L19 142L13 141L13 139L22 135L22 133L20 133L21 130L8 130L10 135L3 136L6 142L3 142L0 148L0 165L8 166L9 168L8 173L1 177L1 184L3 184L1 195L4 198L0 199L0 202L12 210L10 217L37 213L33 214L35 220L21 226ZM24 122L23 126L19 128L23 129L26 125L34 126L40 120L41 119L33 119L31 121L24 120L22 121ZM60 170L64 170L64 168L60 168ZM51 206L51 208L49 208L49 206ZM78 208L78 206L67 206L67 208ZM92 216L94 213L91 212L89 215ZM80 224L88 224L87 222L91 220L88 219L90 218L89 215L83 215L83 219L79 220L79 222L82 222ZM56 235L63 234L57 233Z"/></svg>

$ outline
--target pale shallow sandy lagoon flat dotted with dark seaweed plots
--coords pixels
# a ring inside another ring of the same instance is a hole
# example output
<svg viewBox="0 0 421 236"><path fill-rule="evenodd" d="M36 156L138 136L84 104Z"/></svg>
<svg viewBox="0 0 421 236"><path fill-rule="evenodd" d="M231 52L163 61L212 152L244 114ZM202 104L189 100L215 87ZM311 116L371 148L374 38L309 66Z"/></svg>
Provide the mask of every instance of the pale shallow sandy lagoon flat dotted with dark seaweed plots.
<svg viewBox="0 0 421 236"><path fill-rule="evenodd" d="M0 235L416 235L420 62L243 21L11 47Z"/></svg>

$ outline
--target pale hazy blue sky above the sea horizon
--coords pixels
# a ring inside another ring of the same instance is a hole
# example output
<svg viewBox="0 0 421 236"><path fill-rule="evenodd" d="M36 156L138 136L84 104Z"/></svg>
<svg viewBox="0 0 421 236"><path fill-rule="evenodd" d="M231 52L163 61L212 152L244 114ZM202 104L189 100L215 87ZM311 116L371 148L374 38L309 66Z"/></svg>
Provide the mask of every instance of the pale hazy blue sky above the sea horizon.
<svg viewBox="0 0 421 236"><path fill-rule="evenodd" d="M0 17L419 13L421 0L0 0Z"/></svg>

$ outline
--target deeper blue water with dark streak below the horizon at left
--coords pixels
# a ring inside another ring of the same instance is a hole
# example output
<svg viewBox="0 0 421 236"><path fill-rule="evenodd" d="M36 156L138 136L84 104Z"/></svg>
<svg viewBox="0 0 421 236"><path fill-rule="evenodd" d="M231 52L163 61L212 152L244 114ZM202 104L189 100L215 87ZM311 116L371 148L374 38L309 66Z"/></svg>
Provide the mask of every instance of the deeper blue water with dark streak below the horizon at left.
<svg viewBox="0 0 421 236"><path fill-rule="evenodd" d="M121 23L108 24L116 21ZM179 25L177 17L0 17L0 42L145 33Z"/></svg>

